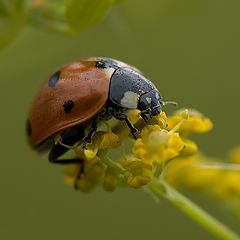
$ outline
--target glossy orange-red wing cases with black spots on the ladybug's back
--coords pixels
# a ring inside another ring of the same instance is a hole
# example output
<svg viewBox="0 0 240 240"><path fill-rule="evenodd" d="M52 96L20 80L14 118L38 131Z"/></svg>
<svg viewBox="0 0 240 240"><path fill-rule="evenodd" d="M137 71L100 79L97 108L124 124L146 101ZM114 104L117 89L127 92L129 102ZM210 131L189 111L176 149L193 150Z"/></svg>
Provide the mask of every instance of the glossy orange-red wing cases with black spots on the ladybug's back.
<svg viewBox="0 0 240 240"><path fill-rule="evenodd" d="M88 58L64 65L55 71L59 72L59 78L54 86L49 86L49 79L43 83L27 121L28 141L33 148L61 130L88 121L104 107L115 69L97 68L95 65L100 59ZM139 71L115 62L119 67ZM71 104L65 109L67 103Z"/></svg>

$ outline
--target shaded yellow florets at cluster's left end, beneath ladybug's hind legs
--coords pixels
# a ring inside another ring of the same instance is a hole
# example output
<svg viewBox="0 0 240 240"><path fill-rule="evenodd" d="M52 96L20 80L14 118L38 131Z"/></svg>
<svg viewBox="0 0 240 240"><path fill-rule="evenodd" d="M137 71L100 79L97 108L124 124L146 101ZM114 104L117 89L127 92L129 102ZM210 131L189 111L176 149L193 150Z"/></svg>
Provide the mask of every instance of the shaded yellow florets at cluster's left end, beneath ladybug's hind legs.
<svg viewBox="0 0 240 240"><path fill-rule="evenodd" d="M83 159L82 164L73 164L65 172L65 180L82 192L89 192L98 185L106 191L113 191L118 184L119 174L103 162L105 150L119 146L119 138L112 131L99 131L94 135L93 143L83 149L80 144L74 148L76 155ZM100 157L101 156L101 157ZM82 169L82 171L81 171Z"/></svg>

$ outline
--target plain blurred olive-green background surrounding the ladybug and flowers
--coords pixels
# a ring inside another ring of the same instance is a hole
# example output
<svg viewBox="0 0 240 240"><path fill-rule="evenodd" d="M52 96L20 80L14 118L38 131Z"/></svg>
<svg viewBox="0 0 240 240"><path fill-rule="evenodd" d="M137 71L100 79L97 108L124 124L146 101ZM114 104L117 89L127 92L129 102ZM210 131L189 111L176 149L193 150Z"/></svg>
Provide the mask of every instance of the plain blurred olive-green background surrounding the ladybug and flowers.
<svg viewBox="0 0 240 240"><path fill-rule="evenodd" d="M198 136L198 144L208 155L224 157L240 142L239 9L238 0L121 0L77 36L27 28L0 52L0 238L215 239L140 190L74 191L63 181L63 167L28 147L24 124L50 72L75 59L106 56L137 66L164 99L209 116L214 129ZM165 109L171 113L173 107ZM191 197L238 230L216 202Z"/></svg>

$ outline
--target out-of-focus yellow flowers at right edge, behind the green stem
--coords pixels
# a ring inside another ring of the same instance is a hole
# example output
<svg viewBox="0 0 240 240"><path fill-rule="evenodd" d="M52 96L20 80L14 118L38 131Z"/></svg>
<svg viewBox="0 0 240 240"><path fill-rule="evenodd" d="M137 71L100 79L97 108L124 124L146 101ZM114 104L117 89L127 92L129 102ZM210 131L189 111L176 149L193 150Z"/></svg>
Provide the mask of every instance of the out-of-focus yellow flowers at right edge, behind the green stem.
<svg viewBox="0 0 240 240"><path fill-rule="evenodd" d="M204 190L230 203L240 199L240 148L234 149L227 161L202 154L178 157L165 168L164 179L172 186Z"/></svg>

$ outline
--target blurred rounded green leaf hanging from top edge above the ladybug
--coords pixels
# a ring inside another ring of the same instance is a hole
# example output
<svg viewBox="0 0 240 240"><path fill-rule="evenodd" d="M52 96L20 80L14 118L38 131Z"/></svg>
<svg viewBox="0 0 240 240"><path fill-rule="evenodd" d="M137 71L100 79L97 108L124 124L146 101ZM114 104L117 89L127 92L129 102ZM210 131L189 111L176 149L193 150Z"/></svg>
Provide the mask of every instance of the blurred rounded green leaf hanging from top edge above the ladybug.
<svg viewBox="0 0 240 240"><path fill-rule="evenodd" d="M74 31L82 31L98 22L115 0L68 0L66 21Z"/></svg>

